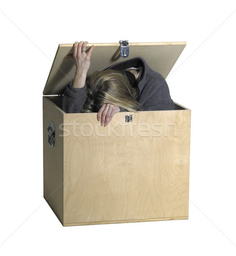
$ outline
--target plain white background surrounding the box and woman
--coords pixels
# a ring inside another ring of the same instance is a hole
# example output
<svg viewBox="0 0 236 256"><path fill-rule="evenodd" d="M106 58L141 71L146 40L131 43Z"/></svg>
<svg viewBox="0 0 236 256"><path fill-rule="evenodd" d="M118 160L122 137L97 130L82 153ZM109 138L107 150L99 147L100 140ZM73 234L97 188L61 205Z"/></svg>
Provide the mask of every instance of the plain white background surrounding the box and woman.
<svg viewBox="0 0 236 256"><path fill-rule="evenodd" d="M0 254L236 255L234 0L0 4ZM186 41L167 82L192 110L189 220L63 227L43 199L42 92L58 44Z"/></svg>

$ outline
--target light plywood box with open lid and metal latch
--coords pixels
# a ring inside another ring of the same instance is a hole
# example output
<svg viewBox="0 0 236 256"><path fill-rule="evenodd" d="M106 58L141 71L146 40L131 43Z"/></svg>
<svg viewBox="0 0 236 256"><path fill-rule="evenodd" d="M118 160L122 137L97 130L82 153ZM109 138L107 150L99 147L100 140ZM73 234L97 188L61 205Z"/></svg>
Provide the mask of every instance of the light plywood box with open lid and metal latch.
<svg viewBox="0 0 236 256"><path fill-rule="evenodd" d="M94 45L88 77L124 60L119 43ZM185 43L129 47L127 58L166 78ZM191 111L175 102L173 111L120 112L107 127L97 113L65 113L72 48L59 45L43 91L44 198L57 218L63 226L188 219Z"/></svg>

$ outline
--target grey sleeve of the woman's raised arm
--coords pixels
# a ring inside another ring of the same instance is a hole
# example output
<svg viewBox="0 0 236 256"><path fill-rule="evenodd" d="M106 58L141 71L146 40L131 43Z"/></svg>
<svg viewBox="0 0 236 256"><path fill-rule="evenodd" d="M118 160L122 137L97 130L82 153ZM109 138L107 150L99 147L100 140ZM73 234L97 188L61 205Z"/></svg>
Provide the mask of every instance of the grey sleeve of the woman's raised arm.
<svg viewBox="0 0 236 256"><path fill-rule="evenodd" d="M74 88L72 82L66 87L63 94L62 107L65 113L80 113L87 99L87 85L82 88Z"/></svg>

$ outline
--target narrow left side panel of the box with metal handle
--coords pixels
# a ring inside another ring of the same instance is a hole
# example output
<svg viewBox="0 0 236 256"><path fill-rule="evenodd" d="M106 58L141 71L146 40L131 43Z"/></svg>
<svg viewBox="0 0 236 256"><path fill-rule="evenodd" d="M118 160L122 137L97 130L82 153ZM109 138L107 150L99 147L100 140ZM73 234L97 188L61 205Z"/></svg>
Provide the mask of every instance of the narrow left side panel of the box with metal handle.
<svg viewBox="0 0 236 256"><path fill-rule="evenodd" d="M49 122L55 125L55 145L48 144ZM63 223L63 137L60 124L63 113L47 97L43 97L43 196Z"/></svg>

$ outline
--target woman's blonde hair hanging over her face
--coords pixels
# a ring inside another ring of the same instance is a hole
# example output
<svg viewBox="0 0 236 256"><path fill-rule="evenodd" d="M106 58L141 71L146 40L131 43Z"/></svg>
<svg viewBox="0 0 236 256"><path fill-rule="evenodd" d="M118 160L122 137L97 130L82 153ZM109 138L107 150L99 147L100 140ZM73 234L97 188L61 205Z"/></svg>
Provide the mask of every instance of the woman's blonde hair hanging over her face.
<svg viewBox="0 0 236 256"><path fill-rule="evenodd" d="M127 111L137 111L138 97L137 88L132 87L120 71L96 71L91 76L82 112L98 112L106 103L125 108Z"/></svg>

